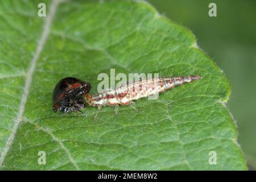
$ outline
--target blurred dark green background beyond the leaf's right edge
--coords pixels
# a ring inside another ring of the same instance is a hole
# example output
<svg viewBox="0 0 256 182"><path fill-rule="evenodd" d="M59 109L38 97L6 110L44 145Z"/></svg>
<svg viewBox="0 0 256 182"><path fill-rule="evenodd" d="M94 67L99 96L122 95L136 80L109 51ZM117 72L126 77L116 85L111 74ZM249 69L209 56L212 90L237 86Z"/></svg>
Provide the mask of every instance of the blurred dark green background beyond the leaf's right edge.
<svg viewBox="0 0 256 182"><path fill-rule="evenodd" d="M256 169L256 1L148 0L163 15L189 28L198 46L232 85L228 107L249 169ZM217 17L209 17L209 3Z"/></svg>

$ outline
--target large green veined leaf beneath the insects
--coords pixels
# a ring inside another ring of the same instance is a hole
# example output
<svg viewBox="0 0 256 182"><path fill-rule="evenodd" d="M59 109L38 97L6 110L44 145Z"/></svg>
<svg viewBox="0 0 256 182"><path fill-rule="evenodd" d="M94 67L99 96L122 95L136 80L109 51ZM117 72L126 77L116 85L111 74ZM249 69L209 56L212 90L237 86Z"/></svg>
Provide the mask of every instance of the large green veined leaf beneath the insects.
<svg viewBox="0 0 256 182"><path fill-rule="evenodd" d="M247 169L225 107L230 85L190 31L144 1L44 1L45 18L39 2L0 1L1 169ZM110 68L203 79L138 100L139 113L52 112L57 81L79 77L97 93Z"/></svg>

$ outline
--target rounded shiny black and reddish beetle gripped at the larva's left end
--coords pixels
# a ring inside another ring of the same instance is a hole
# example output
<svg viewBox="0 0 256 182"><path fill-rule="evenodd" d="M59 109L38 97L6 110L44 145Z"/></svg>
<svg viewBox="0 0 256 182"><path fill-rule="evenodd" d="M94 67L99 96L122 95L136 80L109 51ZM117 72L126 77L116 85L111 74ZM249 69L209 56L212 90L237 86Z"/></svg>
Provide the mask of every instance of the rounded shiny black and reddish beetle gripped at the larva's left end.
<svg viewBox="0 0 256 182"><path fill-rule="evenodd" d="M84 108L84 94L90 92L90 83L81 81L75 77L67 77L60 80L52 93L52 110L60 110L62 113L80 111Z"/></svg>

